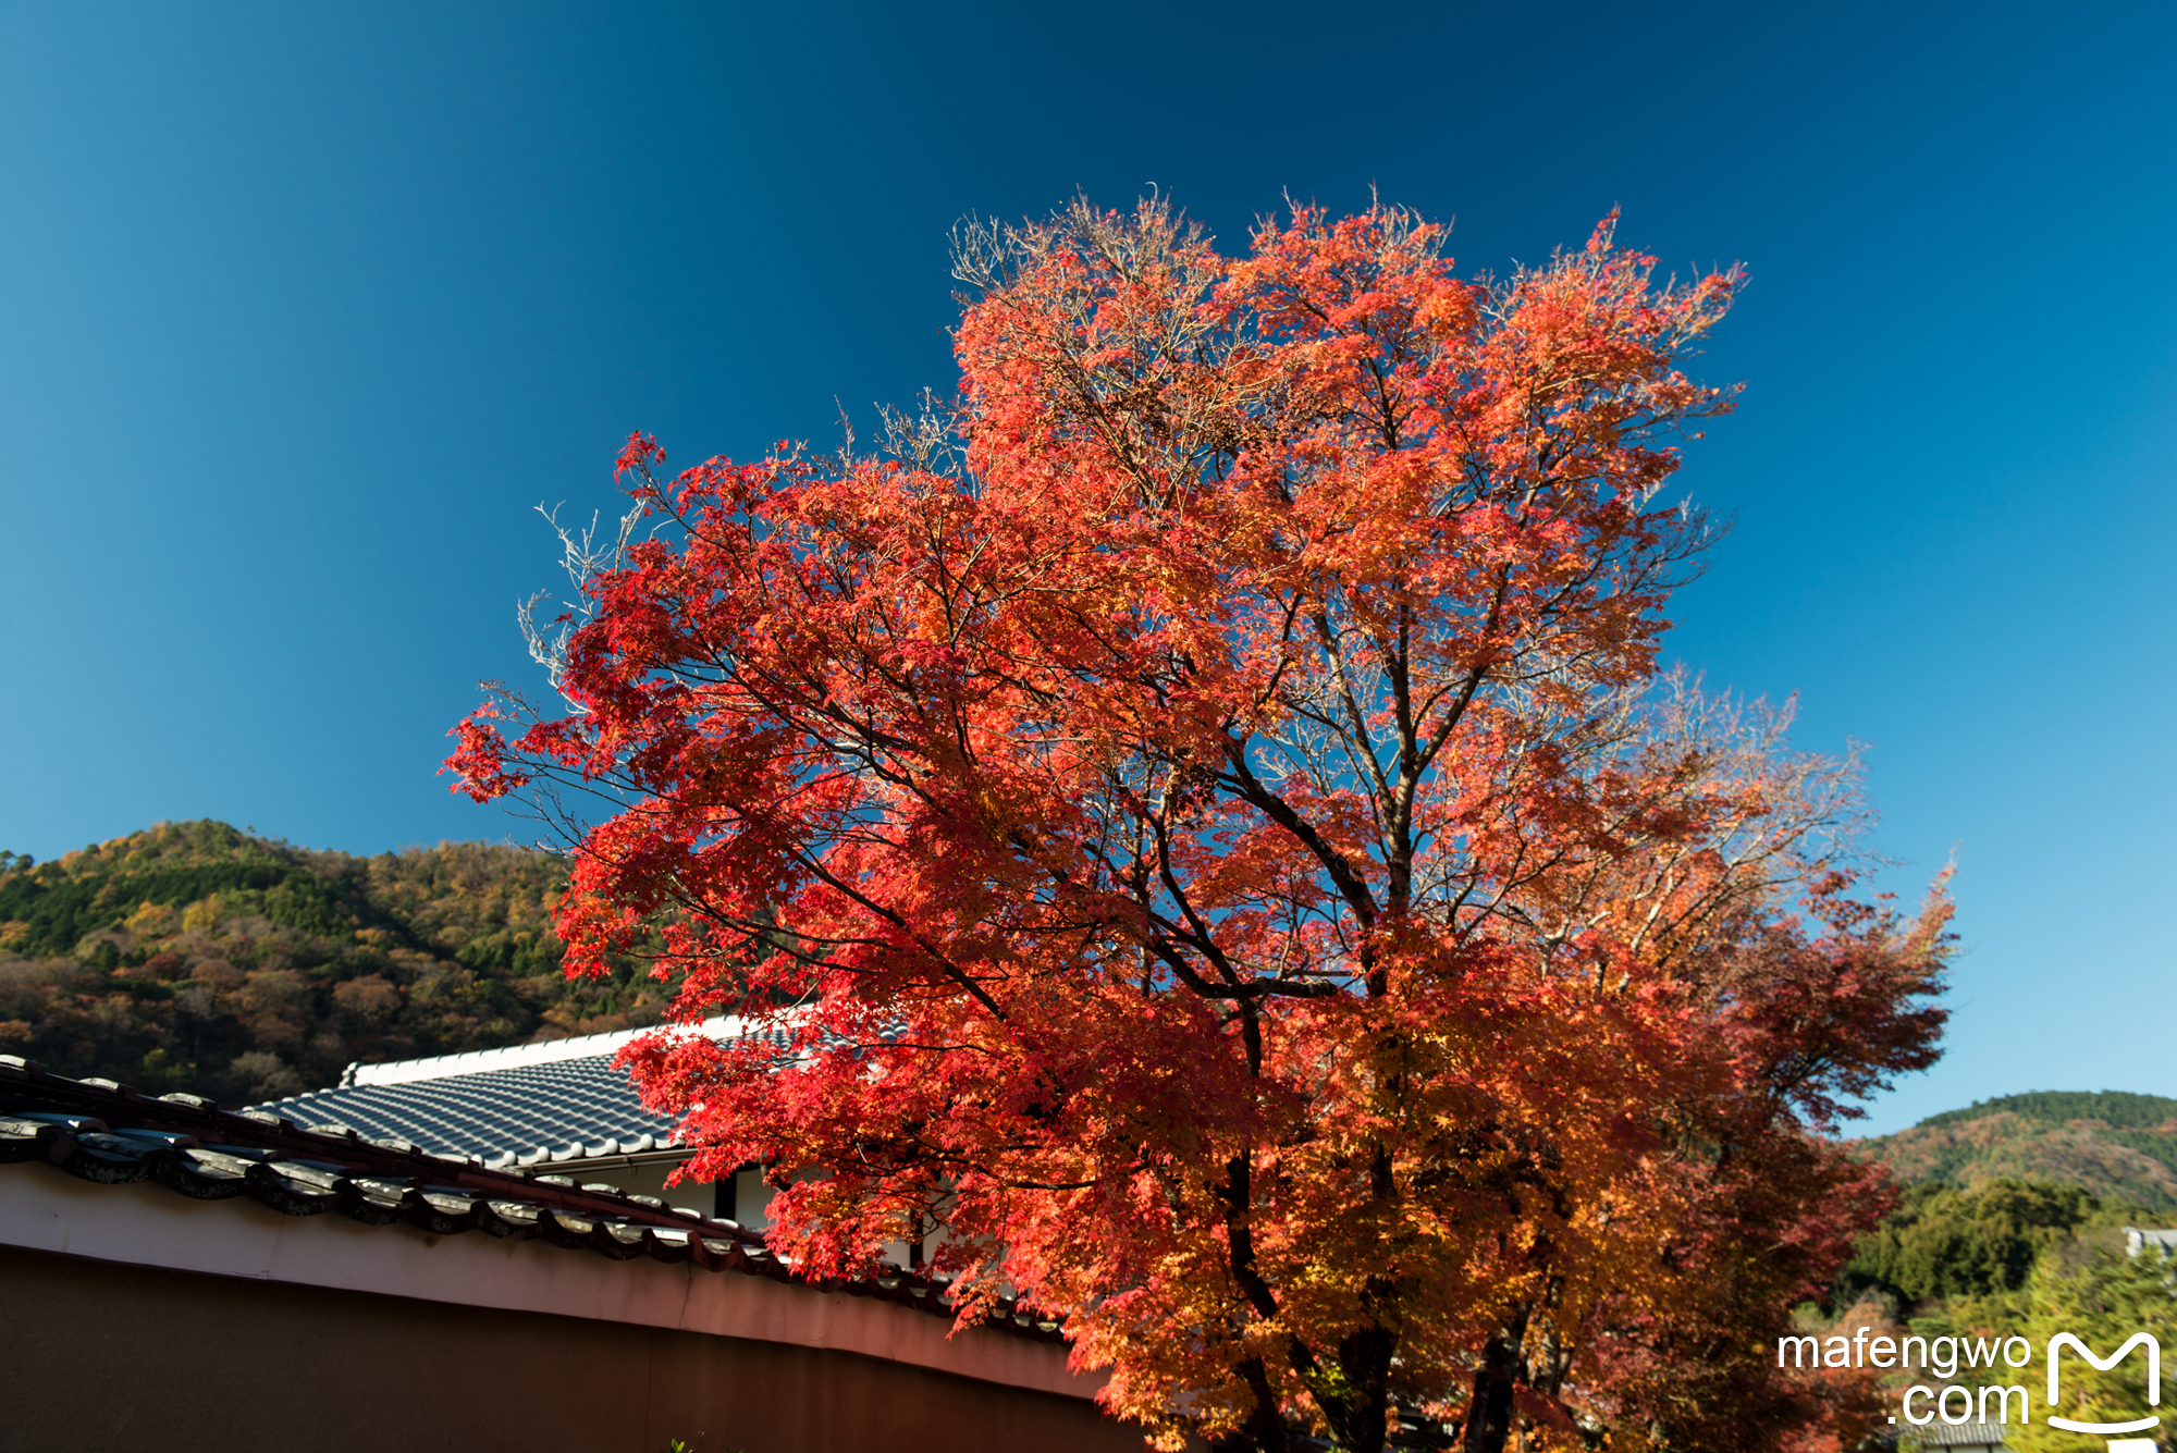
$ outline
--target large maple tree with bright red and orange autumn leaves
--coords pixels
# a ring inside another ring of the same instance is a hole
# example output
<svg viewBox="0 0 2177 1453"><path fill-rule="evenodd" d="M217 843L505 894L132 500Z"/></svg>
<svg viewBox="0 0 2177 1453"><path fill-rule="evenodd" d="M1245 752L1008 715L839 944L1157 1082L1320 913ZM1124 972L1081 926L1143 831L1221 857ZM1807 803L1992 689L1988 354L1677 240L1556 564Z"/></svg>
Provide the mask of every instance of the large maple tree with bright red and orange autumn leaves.
<svg viewBox="0 0 2177 1453"><path fill-rule="evenodd" d="M1824 1133L1933 1059L1946 905L1657 674L1737 274L1613 222L1463 281L1387 207L1073 207L962 233L958 402L882 450L629 442L568 709L451 763L601 794L570 964L662 924L684 1022L790 1031L631 1057L694 1175L829 1275L938 1229L1165 1446L1850 1442L1763 1340L1890 1203Z"/></svg>

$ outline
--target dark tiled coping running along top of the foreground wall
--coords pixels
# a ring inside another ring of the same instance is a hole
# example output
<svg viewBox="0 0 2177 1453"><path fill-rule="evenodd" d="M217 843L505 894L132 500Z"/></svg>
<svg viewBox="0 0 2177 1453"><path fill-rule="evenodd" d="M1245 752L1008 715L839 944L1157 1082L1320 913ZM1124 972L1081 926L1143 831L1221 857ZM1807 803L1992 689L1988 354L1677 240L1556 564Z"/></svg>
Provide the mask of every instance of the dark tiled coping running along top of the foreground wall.
<svg viewBox="0 0 2177 1453"><path fill-rule="evenodd" d="M0 1175L150 1181L192 1201L248 1196L287 1216L348 1216L385 1227L385 1235L475 1231L614 1262L694 1262L712 1272L823 1286L951 1316L940 1279L882 1268L866 1281L814 1281L786 1266L762 1235L655 1196L538 1170L494 1170L475 1157L355 1131L311 1131L261 1109L220 1109L196 1094L146 1096L107 1079L63 1079L15 1055L0 1055ZM1056 1336L1056 1322L1025 1312L997 1325L1014 1336Z"/></svg>

